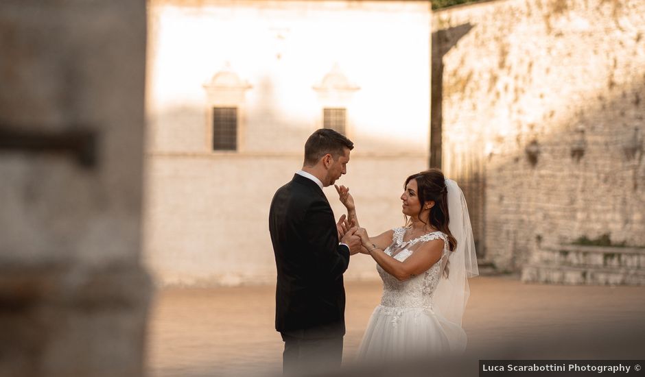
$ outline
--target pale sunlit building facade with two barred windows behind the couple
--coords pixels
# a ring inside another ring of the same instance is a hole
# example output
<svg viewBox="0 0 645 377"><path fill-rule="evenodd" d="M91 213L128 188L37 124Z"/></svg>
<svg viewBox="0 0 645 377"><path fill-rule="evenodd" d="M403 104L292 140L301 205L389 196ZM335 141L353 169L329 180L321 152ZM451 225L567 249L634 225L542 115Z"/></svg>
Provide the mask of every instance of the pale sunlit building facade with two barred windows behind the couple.
<svg viewBox="0 0 645 377"><path fill-rule="evenodd" d="M428 1L151 0L148 17L144 238L158 282L274 281L270 201L320 127L355 143L338 183L361 225L403 223L403 181L428 161ZM346 276L375 278L373 260L355 256Z"/></svg>

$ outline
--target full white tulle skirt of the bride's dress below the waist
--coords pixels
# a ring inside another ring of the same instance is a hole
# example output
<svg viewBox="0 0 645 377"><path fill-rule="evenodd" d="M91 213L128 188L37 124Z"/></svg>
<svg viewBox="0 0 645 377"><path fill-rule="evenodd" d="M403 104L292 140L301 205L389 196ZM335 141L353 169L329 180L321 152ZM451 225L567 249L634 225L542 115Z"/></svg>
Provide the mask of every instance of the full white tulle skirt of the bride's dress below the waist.
<svg viewBox="0 0 645 377"><path fill-rule="evenodd" d="M431 308L379 305L370 318L357 361L387 362L463 352L466 333Z"/></svg>

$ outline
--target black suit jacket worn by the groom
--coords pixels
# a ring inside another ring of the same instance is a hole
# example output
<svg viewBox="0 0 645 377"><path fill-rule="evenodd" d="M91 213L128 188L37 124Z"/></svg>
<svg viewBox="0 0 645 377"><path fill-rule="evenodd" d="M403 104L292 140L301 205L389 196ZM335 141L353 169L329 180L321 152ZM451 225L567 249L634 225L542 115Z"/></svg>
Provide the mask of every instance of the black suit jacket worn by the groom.
<svg viewBox="0 0 645 377"><path fill-rule="evenodd" d="M296 174L278 189L269 231L278 272L276 330L300 338L344 335L342 273L349 247L338 244L336 221L320 186Z"/></svg>

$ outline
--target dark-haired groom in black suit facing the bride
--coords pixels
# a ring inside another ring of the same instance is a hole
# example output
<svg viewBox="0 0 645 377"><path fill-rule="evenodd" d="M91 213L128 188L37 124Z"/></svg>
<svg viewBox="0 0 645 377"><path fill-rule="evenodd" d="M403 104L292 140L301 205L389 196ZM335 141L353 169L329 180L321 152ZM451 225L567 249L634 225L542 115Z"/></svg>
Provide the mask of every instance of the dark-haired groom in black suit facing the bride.
<svg viewBox="0 0 645 377"><path fill-rule="evenodd" d="M285 342L284 374L340 367L345 334L342 273L349 256L360 252L361 242L355 228L338 242L322 187L347 172L353 147L336 131L314 132L305 143L303 169L271 202L269 231L278 271L275 326Z"/></svg>

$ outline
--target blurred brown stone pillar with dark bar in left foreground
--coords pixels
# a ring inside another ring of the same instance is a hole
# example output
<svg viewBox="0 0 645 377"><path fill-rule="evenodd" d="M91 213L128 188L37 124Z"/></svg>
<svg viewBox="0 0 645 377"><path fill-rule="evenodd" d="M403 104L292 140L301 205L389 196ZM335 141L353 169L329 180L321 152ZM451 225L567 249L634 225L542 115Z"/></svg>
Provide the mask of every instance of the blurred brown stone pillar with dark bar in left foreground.
<svg viewBox="0 0 645 377"><path fill-rule="evenodd" d="M0 2L0 376L141 376L145 1Z"/></svg>

